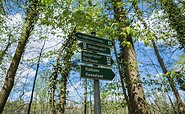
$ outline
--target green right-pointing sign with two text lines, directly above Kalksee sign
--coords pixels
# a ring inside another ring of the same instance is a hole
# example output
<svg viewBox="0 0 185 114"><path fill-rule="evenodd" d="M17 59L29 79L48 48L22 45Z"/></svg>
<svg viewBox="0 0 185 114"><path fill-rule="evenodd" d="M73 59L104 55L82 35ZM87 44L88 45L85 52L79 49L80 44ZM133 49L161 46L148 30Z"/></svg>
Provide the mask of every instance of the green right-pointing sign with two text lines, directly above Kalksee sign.
<svg viewBox="0 0 185 114"><path fill-rule="evenodd" d="M111 66L114 63L110 56L90 53L86 51L82 51L81 54L81 61L85 63L107 66Z"/></svg>

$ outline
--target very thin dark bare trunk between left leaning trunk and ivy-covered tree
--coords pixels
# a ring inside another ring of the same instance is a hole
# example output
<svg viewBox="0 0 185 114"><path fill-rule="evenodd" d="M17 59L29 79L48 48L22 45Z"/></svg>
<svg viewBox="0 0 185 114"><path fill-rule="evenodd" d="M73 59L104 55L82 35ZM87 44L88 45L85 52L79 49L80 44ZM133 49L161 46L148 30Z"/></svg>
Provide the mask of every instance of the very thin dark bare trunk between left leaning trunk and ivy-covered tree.
<svg viewBox="0 0 185 114"><path fill-rule="evenodd" d="M31 104L32 104L32 100L33 100L33 93L34 93L34 90L35 90L35 84L36 84L37 74L38 74L39 67L40 67L40 60L41 60L41 56L42 56L42 51L44 49L44 45L45 45L45 41L44 41L44 44L41 48L41 52L39 54L39 58L38 58L38 62L37 62L37 68L36 68L36 73L35 73L35 78L34 78L33 87L32 87L32 91L31 91L31 98L30 98L30 103L29 103L29 106L28 106L28 113L27 114L30 114L30 110L31 110Z"/></svg>

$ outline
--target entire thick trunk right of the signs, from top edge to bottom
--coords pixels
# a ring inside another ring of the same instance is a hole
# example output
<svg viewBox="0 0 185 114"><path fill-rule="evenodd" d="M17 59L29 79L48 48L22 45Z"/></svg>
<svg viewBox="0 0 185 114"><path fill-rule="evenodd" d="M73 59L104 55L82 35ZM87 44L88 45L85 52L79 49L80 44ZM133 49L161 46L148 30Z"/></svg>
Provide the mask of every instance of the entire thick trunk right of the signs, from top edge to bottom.
<svg viewBox="0 0 185 114"><path fill-rule="evenodd" d="M126 77L126 84L128 89L128 96L130 100L130 105L132 109L129 114L148 114L146 101L144 97L144 91L142 88L142 83L140 81L140 75L138 72L136 53L134 50L133 41L130 35L125 38L121 35L122 29L128 25L124 25L126 21L126 15L123 9L123 3L121 0L112 0L114 7L114 17L116 21L120 24L119 26L119 40L121 47L121 55L123 58L123 66ZM130 46L123 46L122 42L129 42Z"/></svg>

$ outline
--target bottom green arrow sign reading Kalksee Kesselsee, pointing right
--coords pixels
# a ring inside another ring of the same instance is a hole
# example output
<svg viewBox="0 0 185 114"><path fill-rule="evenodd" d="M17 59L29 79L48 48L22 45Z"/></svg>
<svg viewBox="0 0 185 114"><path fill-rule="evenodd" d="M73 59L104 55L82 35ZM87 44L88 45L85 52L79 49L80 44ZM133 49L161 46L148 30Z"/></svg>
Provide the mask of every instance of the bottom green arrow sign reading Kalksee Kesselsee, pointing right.
<svg viewBox="0 0 185 114"><path fill-rule="evenodd" d="M98 68L92 66L80 66L80 75L83 78L94 78L103 80L112 80L115 76L111 69Z"/></svg>

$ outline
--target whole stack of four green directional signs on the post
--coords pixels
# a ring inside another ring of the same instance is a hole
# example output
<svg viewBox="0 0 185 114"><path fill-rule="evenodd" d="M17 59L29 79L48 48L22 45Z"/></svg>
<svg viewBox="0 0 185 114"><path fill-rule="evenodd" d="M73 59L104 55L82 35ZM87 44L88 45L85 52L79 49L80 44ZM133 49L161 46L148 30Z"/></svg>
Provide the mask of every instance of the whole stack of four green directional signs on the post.
<svg viewBox="0 0 185 114"><path fill-rule="evenodd" d="M113 64L112 58L107 56L110 55L110 47L113 46L110 40L83 33L76 33L75 36L82 41L78 44L82 49L81 62L109 67ZM83 78L112 80L115 74L111 69L81 65L80 76Z"/></svg>

